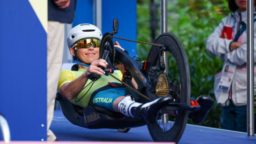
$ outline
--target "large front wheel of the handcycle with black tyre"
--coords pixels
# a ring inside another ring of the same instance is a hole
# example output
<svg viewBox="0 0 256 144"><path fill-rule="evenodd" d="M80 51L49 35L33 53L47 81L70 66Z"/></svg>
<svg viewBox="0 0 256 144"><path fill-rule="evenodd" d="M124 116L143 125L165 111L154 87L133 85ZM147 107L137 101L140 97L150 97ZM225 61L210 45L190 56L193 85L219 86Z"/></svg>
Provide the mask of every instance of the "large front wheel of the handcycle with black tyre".
<svg viewBox="0 0 256 144"><path fill-rule="evenodd" d="M149 71L153 66L165 65L165 73L168 79L169 95L173 97L173 103L189 103L190 101L190 72L187 61L187 56L180 40L172 33L162 33L155 39L155 44L164 45L166 48L165 54L158 46L152 46L149 51L145 73L151 83L155 81L155 76L150 75ZM164 61L163 61L164 60ZM163 71L163 70L162 70ZM160 72L162 73L162 72ZM161 75L161 74L160 74ZM154 76L154 78L150 78ZM160 76L158 77L159 81ZM156 83L156 82L155 82ZM158 89L163 88L163 85L155 86L155 95ZM154 84L153 84L154 87ZM168 91L167 91L168 92ZM158 92L159 93L159 92ZM174 111L172 111L174 113ZM168 115L171 111L167 112L165 116L169 117L169 121L163 123L161 117L164 112L160 112L157 122L148 124L149 133L154 141L174 141L178 142L184 132L188 111L179 110L175 111L176 117Z"/></svg>

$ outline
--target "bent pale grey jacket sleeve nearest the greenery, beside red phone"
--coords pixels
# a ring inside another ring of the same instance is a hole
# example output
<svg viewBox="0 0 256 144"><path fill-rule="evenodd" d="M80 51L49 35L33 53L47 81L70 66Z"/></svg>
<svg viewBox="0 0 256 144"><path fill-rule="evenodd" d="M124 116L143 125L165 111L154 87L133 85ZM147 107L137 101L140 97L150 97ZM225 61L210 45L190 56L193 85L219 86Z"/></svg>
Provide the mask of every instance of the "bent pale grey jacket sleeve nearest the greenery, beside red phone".
<svg viewBox="0 0 256 144"><path fill-rule="evenodd" d="M206 49L208 53L213 57L220 57L221 60L224 60L224 55L230 52L229 44L232 42L232 39L220 38L224 27L223 21L225 21L225 18L222 19L219 26L215 28L214 32L210 34L206 41Z"/></svg>

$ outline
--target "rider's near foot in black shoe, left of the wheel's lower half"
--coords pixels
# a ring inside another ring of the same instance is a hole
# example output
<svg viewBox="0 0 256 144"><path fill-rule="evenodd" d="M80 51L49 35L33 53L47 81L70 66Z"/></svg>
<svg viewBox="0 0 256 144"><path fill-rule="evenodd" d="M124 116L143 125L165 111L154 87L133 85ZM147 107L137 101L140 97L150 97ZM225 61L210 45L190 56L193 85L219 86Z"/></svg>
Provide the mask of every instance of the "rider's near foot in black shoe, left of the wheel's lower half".
<svg viewBox="0 0 256 144"><path fill-rule="evenodd" d="M165 107L170 101L171 98L165 96L143 104L140 108L140 114L147 123L155 123L159 110Z"/></svg>

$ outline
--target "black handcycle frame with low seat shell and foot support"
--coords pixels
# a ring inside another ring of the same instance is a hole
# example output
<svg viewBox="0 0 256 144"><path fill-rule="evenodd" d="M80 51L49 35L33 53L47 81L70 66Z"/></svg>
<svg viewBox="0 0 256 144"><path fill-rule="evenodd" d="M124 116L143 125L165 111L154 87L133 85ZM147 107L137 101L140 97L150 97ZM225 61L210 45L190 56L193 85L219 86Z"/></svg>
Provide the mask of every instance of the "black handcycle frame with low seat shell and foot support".
<svg viewBox="0 0 256 144"><path fill-rule="evenodd" d="M105 36L110 33L105 33L101 40L102 45L104 45ZM114 33L113 33L114 34ZM110 34L113 36L113 34ZM109 43L113 44L113 40L108 40ZM125 83L133 87L131 83L131 77L137 82L138 88L137 91L146 95L148 99L143 98L135 92L131 92L131 95L137 95L137 102L146 103L157 99L157 96L151 92L152 86L149 82L149 79L146 77L145 72L141 69L141 64L138 63L135 59L130 57L127 53L122 51L113 45L108 47L112 49L112 52L115 54L115 62L121 63L125 69L127 69L126 76L130 77L125 79ZM159 47L160 48L160 47ZM105 49L105 48L104 48ZM165 48L162 47L161 51L165 51ZM101 52L100 52L101 55ZM110 58L107 60L109 65L112 65ZM190 79L188 80L190 81ZM121 86L121 84L119 85ZM88 129L124 129L132 128L146 125L147 123L143 119L137 119L134 117L128 117L118 112L113 112L104 108L97 107L92 104L92 99L98 91L111 88L107 85L101 89L95 91L90 98L90 102L87 107L82 108L77 105L73 105L69 100L64 98L59 92L57 93L56 99L60 102L64 116L73 124L88 128ZM126 92L129 91L129 88L126 87ZM136 98L136 97L135 97ZM188 101L187 101L188 102ZM200 105L191 105L189 102L175 102L169 103L165 108L163 108L161 114L171 114L171 111L182 110L182 111L197 111L200 109ZM184 119L185 120L185 119ZM178 141L179 138L175 141Z"/></svg>

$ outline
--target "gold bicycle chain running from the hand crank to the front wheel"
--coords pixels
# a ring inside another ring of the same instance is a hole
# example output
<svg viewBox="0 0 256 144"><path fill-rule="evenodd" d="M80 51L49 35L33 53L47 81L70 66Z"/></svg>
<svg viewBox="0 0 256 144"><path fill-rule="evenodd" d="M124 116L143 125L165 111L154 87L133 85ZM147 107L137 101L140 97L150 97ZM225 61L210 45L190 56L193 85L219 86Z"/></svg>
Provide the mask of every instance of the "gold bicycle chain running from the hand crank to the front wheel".
<svg viewBox="0 0 256 144"><path fill-rule="evenodd" d="M154 44L154 43L149 43L149 42L143 42L143 41L138 41L138 40L132 40L132 39L125 39L125 38L120 38L120 37L116 37L116 36L112 36L112 35L107 35L105 38L107 37L111 37L111 38L116 38L116 39L122 39L122 40L126 40L126 41L131 41L131 42L135 42L135 43L141 43L141 44L145 44L145 45L154 45L154 46L164 46L161 44ZM103 39L103 41L105 40L105 38ZM103 45L103 43L102 43ZM101 54L103 53L103 48L101 45ZM113 63L115 61L115 52L114 52L114 57L113 57ZM162 51L162 64L164 64L164 51ZM163 72L165 73L165 72ZM136 89L132 88L131 86L129 86L128 84L126 84L125 82L119 80L117 77L115 77L114 75L112 75L111 73L108 73L109 75L111 75L113 78L115 78L116 80L118 80L119 82L121 82L121 84L125 85L126 87L129 87L132 91L134 91L135 93L141 95L143 98L150 100L149 97L143 95L142 93L138 92Z"/></svg>

